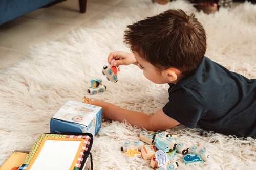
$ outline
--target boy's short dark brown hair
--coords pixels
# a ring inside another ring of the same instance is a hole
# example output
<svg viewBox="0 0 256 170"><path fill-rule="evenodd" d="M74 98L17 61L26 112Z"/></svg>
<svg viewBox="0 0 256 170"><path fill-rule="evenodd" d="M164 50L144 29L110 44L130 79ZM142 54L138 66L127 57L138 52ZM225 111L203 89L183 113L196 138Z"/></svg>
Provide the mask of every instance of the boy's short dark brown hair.
<svg viewBox="0 0 256 170"><path fill-rule="evenodd" d="M175 67L187 74L204 58L205 30L195 14L170 9L127 28L124 43L158 70Z"/></svg>

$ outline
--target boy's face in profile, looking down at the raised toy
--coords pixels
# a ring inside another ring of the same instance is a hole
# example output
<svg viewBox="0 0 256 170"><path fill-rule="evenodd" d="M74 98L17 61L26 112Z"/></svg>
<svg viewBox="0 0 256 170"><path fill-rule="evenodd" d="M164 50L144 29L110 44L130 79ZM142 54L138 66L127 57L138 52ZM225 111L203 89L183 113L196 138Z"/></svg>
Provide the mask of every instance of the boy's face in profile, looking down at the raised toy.
<svg viewBox="0 0 256 170"><path fill-rule="evenodd" d="M170 83L167 77L164 75L164 71L157 71L155 66L141 58L137 52L134 51L133 54L138 63L138 67L143 70L143 74L148 80L156 84Z"/></svg>

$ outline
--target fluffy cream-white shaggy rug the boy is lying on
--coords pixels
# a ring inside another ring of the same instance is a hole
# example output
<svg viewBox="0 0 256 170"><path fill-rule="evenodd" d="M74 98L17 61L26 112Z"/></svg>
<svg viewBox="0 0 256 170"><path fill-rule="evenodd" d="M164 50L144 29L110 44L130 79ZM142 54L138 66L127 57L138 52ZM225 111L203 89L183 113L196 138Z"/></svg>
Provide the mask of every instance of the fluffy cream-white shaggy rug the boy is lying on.
<svg viewBox="0 0 256 170"><path fill-rule="evenodd" d="M84 95L125 109L155 113L167 102L168 85L155 85L134 65L121 66L117 83L106 81L101 69L112 51L129 49L122 43L125 26L169 8L195 12L208 36L206 56L232 71L256 78L256 5L248 2L215 14L197 12L189 2L167 5L138 1L131 7L116 7L105 18L80 27L67 36L38 45L26 58L0 71L0 165L14 150L29 151L42 133L50 131L50 118L68 100ZM102 78L107 91L89 95L91 79ZM125 123L103 120L94 138L94 169L151 169L150 160L127 159L120 151L125 141L138 140L141 129ZM182 155L174 161L179 169L255 169L256 140L188 129L169 129L187 145L205 147L210 159L184 164Z"/></svg>

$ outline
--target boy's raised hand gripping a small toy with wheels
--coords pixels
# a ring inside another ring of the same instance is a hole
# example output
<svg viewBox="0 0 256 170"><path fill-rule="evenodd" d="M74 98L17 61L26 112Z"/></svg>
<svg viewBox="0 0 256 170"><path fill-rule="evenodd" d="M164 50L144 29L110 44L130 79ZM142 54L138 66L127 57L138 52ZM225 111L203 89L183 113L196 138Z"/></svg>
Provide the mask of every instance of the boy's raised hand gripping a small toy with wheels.
<svg viewBox="0 0 256 170"><path fill-rule="evenodd" d="M130 65L130 64L137 65L137 61L133 53L126 53L121 51L111 52L108 57L108 62L110 63L111 60L113 59L115 59L113 66Z"/></svg>

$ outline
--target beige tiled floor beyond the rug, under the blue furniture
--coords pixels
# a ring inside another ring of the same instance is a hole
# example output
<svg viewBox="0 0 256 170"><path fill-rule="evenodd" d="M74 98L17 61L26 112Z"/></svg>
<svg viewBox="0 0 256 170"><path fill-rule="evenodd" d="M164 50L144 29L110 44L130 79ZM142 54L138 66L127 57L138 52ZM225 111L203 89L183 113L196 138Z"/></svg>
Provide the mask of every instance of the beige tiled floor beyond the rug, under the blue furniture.
<svg viewBox="0 0 256 170"><path fill-rule="evenodd" d="M88 0L87 12L79 13L78 0L67 0L7 22L0 26L0 69L26 56L35 44L56 40L76 27L93 24L113 8L136 1Z"/></svg>

